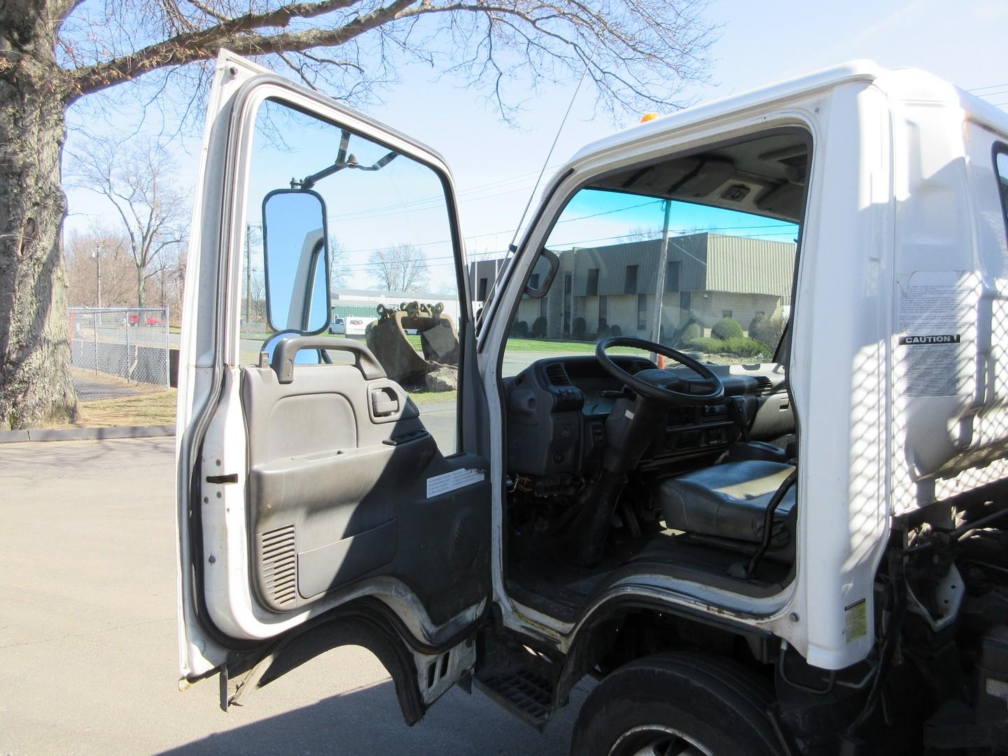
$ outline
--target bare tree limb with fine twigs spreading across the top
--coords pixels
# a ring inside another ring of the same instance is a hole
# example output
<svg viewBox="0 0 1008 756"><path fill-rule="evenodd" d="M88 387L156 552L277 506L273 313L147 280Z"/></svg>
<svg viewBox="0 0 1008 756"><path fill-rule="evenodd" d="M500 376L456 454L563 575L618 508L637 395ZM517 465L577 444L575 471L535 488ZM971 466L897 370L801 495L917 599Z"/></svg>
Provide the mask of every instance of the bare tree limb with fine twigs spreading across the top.
<svg viewBox="0 0 1008 756"><path fill-rule="evenodd" d="M229 48L345 98L393 79L398 52L485 87L511 120L529 88L586 72L611 112L674 107L683 84L706 76L714 33L704 0L145 1L156 2L157 28L170 33L152 29L149 43L113 55L62 45L69 101ZM362 38L367 50L330 52Z"/></svg>

